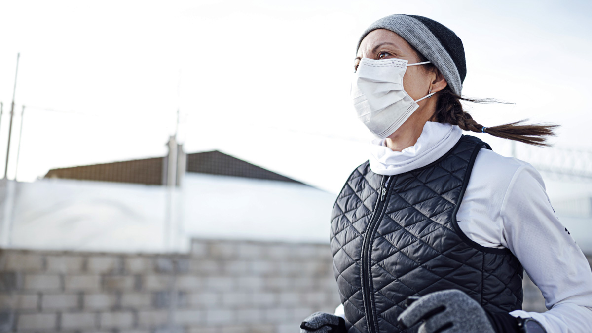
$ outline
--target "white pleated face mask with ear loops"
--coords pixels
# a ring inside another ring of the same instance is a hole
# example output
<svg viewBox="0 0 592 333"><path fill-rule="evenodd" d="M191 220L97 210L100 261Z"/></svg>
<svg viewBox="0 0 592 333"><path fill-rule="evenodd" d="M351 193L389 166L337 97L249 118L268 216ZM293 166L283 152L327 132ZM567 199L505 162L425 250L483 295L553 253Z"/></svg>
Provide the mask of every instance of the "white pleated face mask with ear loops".
<svg viewBox="0 0 592 333"><path fill-rule="evenodd" d="M360 60L352 81L353 106L358 119L375 136L384 139L394 133L417 110L417 102L436 94L432 92L414 101L403 90L407 66L424 63L430 62L407 64L403 59Z"/></svg>

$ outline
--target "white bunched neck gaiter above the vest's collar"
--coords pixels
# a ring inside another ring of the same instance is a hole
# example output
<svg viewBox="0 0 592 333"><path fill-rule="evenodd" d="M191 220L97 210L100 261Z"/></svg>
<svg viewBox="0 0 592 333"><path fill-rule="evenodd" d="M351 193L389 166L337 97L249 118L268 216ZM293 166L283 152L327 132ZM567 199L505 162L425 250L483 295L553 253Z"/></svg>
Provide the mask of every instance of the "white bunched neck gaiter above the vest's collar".
<svg viewBox="0 0 592 333"><path fill-rule="evenodd" d="M425 167L450 151L461 135L458 126L427 121L416 144L401 152L391 151L386 139L372 140L370 169L380 175L398 175Z"/></svg>

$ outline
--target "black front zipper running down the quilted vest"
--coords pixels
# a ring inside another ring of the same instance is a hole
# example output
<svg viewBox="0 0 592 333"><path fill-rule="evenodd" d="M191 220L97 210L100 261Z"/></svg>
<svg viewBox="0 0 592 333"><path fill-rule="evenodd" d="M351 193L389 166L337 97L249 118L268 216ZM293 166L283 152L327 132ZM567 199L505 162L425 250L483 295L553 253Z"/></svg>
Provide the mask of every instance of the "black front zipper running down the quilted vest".
<svg viewBox="0 0 592 333"><path fill-rule="evenodd" d="M364 242L362 245L362 286L363 286L363 302L364 302L364 309L366 309L366 318L368 319L368 332L369 333L376 333L376 327L374 326L374 309L372 309L372 296L370 290L370 273L371 273L371 246L372 246L372 235L375 232L375 226L378 225L379 220L381 220L382 214L384 213L385 205L385 198L387 197L388 193L388 183L391 177L386 176L382 177L381 180L381 190L380 190L380 199L378 200L377 207L375 209L374 216L370 223L368 223L368 228L366 228L366 233L364 236Z"/></svg>

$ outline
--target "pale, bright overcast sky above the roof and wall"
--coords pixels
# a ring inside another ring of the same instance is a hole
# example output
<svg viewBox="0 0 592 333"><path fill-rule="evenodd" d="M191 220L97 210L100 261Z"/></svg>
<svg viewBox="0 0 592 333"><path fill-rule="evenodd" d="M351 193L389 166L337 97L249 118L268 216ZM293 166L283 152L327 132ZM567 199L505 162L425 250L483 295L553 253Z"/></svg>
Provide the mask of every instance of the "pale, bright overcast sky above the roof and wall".
<svg viewBox="0 0 592 333"><path fill-rule="evenodd" d="M179 107L186 152L218 149L337 193L372 139L349 98L355 46L395 13L462 39L465 95L515 103L471 105L481 124L557 123L556 147L589 151L590 12L589 1L2 1L0 165L20 52L9 178L23 104L22 181L163 156Z"/></svg>

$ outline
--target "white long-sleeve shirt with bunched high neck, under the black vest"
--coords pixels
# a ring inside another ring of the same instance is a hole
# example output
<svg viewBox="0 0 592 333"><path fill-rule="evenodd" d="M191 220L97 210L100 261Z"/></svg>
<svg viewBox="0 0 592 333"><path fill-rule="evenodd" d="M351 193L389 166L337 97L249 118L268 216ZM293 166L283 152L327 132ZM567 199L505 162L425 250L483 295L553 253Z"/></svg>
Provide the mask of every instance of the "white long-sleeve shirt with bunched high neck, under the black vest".
<svg viewBox="0 0 592 333"><path fill-rule="evenodd" d="M430 164L462 135L458 126L427 122L416 145L393 152L375 140L370 168L396 175ZM481 149L456 214L459 228L472 241L508 248L545 297L547 312L516 310L547 332L592 332L592 272L583 252L559 222L545 184L532 165ZM336 314L343 310L339 307Z"/></svg>

